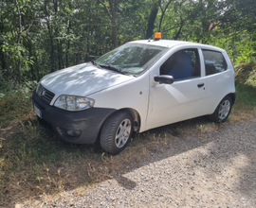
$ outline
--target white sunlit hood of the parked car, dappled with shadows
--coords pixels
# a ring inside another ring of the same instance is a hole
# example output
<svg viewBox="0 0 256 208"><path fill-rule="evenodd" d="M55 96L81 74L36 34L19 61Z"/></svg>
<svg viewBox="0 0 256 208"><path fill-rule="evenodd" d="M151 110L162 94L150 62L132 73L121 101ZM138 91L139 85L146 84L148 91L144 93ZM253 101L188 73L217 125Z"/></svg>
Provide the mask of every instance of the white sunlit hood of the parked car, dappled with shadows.
<svg viewBox="0 0 256 208"><path fill-rule="evenodd" d="M41 84L55 95L85 96L134 78L99 69L91 63L82 63L46 75L42 78Z"/></svg>

